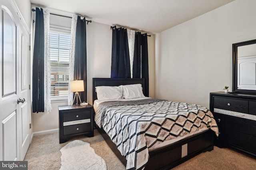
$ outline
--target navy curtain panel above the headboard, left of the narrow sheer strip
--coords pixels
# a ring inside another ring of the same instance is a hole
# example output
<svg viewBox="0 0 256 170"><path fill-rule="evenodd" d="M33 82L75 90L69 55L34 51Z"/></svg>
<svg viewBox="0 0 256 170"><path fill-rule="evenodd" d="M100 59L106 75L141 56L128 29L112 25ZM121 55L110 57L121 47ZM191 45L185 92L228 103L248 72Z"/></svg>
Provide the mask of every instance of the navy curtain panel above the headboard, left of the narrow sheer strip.
<svg viewBox="0 0 256 170"><path fill-rule="evenodd" d="M131 78L127 30L112 27L111 78Z"/></svg>

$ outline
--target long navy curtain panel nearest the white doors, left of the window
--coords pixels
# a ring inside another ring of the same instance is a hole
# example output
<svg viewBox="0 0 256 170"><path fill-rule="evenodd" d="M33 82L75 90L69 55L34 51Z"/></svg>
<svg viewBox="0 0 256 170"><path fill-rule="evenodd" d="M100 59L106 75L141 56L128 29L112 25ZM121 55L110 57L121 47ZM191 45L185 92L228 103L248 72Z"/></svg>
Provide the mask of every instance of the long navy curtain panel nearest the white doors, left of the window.
<svg viewBox="0 0 256 170"><path fill-rule="evenodd" d="M44 13L36 8L36 25L32 68L32 111L44 112Z"/></svg>

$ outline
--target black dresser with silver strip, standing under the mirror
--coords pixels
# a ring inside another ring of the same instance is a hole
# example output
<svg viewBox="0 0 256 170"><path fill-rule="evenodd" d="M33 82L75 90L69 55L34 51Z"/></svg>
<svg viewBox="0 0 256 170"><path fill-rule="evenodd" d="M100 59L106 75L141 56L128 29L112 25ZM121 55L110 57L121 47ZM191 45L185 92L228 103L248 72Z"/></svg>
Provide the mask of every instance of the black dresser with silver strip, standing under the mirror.
<svg viewBox="0 0 256 170"><path fill-rule="evenodd" d="M256 95L212 92L210 111L219 128L216 146L256 156Z"/></svg>

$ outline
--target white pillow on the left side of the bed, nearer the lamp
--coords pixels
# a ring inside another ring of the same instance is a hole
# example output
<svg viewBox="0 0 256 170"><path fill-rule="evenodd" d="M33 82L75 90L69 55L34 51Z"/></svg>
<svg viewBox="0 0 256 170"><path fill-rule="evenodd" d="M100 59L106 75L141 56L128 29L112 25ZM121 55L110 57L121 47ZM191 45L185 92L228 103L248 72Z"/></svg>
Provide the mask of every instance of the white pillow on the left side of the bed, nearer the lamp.
<svg viewBox="0 0 256 170"><path fill-rule="evenodd" d="M97 86L98 100L119 100L122 99L122 86Z"/></svg>

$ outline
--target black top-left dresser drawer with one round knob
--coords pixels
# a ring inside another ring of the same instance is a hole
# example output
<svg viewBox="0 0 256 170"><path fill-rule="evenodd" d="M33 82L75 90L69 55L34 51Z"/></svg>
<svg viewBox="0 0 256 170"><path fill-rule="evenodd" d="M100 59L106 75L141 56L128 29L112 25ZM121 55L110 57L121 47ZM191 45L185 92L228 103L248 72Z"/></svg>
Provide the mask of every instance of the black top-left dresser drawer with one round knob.
<svg viewBox="0 0 256 170"><path fill-rule="evenodd" d="M214 108L248 113L248 101L232 98L214 97Z"/></svg>

